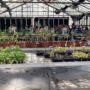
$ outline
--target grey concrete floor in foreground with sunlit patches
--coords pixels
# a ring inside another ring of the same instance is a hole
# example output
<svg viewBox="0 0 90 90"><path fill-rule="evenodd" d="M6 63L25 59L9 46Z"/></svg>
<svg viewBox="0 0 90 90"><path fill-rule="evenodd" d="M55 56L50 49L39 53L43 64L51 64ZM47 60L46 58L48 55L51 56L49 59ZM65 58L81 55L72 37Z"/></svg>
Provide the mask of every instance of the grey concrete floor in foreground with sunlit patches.
<svg viewBox="0 0 90 90"><path fill-rule="evenodd" d="M60 90L90 90L90 66L52 68L54 76L49 71L49 78L45 70L0 70L0 90L57 90L52 77L59 80L57 85Z"/></svg>

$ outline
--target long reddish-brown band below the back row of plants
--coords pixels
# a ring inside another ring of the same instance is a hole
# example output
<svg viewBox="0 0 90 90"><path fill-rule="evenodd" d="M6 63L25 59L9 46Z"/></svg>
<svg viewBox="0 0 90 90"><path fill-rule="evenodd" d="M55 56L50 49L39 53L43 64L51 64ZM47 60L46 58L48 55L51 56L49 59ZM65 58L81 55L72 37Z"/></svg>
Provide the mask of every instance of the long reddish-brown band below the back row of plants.
<svg viewBox="0 0 90 90"><path fill-rule="evenodd" d="M84 46L84 41L42 41L42 42L31 42L31 41L2 41L0 47L7 47L11 45L19 45L21 48L47 48L50 46Z"/></svg>

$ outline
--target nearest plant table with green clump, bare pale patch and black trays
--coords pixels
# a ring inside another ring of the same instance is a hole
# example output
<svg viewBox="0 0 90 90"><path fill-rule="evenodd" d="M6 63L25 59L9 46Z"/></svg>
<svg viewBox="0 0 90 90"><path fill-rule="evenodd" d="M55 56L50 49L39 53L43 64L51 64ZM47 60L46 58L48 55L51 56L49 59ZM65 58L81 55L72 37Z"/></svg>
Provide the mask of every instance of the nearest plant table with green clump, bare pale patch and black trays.
<svg viewBox="0 0 90 90"><path fill-rule="evenodd" d="M26 52L28 51L28 52ZM90 47L51 47L21 49L19 46L0 48L0 64L31 64L90 61Z"/></svg>

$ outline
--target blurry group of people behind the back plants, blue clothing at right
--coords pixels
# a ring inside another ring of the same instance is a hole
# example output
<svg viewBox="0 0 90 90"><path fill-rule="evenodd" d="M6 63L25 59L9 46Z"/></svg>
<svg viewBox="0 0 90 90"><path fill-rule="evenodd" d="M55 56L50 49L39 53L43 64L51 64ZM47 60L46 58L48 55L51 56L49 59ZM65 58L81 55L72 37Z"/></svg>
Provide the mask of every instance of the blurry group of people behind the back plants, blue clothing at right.
<svg viewBox="0 0 90 90"><path fill-rule="evenodd" d="M72 24L71 27L68 25L59 25L55 27L35 27L34 32L43 32L43 31L50 31L54 33L58 33L62 36L68 35L70 38L78 38L78 39L85 39L88 36L89 29L86 26L76 26Z"/></svg>

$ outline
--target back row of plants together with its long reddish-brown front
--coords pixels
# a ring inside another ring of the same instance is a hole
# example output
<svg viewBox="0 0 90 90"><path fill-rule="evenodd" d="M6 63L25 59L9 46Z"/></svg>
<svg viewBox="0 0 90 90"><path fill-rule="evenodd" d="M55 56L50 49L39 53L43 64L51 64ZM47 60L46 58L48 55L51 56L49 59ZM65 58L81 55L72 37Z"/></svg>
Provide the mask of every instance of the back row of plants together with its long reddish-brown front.
<svg viewBox="0 0 90 90"><path fill-rule="evenodd" d="M19 45L21 48L46 48L49 46L83 46L85 41L75 39L70 35L61 35L50 31L43 32L6 32L0 31L0 47Z"/></svg>

